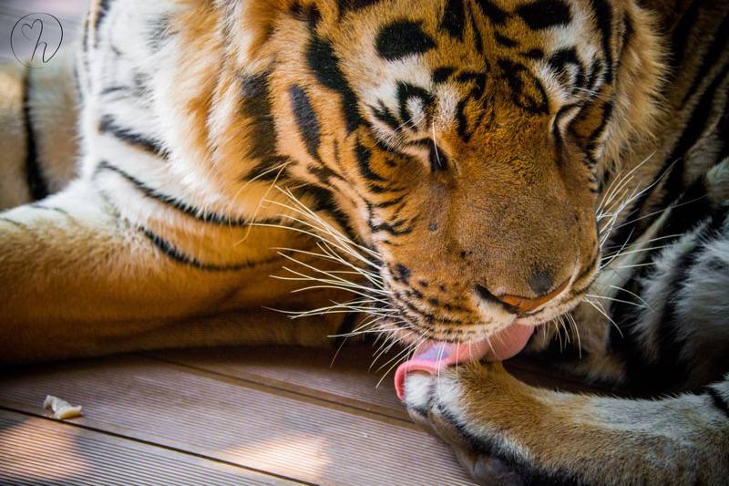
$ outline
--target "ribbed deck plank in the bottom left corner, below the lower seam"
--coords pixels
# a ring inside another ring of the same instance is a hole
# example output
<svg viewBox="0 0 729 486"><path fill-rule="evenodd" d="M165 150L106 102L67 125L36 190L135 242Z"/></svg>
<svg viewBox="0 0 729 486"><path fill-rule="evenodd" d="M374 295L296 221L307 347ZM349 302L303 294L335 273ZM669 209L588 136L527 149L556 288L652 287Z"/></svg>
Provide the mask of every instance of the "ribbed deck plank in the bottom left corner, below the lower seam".
<svg viewBox="0 0 729 486"><path fill-rule="evenodd" d="M295 484L252 470L0 410L3 484Z"/></svg>

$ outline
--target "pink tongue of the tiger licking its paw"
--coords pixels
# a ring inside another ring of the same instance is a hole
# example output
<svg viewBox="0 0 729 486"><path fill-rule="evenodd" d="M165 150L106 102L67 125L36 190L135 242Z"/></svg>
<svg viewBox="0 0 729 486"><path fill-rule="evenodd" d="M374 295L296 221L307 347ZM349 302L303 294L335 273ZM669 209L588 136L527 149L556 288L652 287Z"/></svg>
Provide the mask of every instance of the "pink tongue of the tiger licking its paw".
<svg viewBox="0 0 729 486"><path fill-rule="evenodd" d="M514 324L492 336L488 341L474 341L462 345L450 343L428 342L418 348L416 356L407 360L397 367L395 371L395 390L397 397L403 399L405 396L405 377L411 371L426 371L435 375L438 370L455 365L480 359L488 361L503 361L513 357L527 346L529 336L534 332L534 327L519 326Z"/></svg>

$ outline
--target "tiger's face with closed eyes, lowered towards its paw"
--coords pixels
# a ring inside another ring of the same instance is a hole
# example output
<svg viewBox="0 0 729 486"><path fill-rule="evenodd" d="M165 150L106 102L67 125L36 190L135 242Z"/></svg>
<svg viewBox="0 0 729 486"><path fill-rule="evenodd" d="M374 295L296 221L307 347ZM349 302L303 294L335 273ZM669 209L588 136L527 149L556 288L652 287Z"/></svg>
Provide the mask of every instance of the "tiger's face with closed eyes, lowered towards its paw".
<svg viewBox="0 0 729 486"><path fill-rule="evenodd" d="M605 160L652 112L638 15L606 0L285 3L261 49L277 149L379 255L386 326L476 342L580 302Z"/></svg>

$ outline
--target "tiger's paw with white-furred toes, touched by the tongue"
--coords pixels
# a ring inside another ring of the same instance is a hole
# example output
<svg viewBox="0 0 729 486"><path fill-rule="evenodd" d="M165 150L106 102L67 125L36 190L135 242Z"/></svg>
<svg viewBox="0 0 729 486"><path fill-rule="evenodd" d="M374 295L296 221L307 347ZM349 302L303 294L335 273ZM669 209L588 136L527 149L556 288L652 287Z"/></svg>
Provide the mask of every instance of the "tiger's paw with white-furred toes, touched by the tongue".
<svg viewBox="0 0 729 486"><path fill-rule="evenodd" d="M475 419L468 413L474 406L488 412L488 402L469 403L483 392L498 394L499 384L489 375L503 373L500 365L477 365L443 369L437 375L415 372L407 375L403 401L410 417L428 432L443 439L456 453L467 473L480 484L525 484L510 461L490 453L501 443L498 430L483 414ZM471 393L478 387L478 393ZM481 388L494 387L494 388ZM498 412L496 412L498 413ZM488 415L488 413L487 413Z"/></svg>

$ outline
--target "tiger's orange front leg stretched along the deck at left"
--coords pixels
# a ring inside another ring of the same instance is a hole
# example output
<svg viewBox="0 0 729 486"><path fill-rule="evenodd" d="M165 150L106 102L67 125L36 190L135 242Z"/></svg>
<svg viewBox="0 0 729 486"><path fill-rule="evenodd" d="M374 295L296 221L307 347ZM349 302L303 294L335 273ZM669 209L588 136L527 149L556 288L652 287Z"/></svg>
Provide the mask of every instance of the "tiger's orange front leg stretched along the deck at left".
<svg viewBox="0 0 729 486"><path fill-rule="evenodd" d="M306 247L287 239L291 232L200 222L175 208L135 224L117 211L79 180L0 212L0 365L169 347L323 345L340 325L342 315L292 320L262 308L309 310L336 298L292 295L298 283L271 278L288 262L272 246Z"/></svg>

